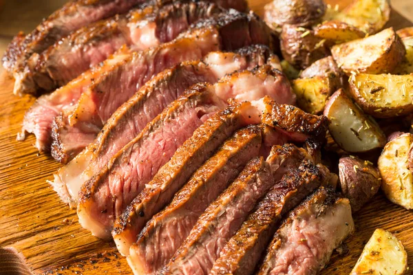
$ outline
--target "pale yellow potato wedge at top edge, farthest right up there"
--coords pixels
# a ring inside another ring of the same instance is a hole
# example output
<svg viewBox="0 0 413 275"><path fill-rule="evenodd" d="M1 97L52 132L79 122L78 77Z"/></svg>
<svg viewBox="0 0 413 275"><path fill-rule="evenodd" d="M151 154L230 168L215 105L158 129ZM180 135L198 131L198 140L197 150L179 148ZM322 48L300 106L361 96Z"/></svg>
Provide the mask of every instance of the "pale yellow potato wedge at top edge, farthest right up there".
<svg viewBox="0 0 413 275"><path fill-rule="evenodd" d="M379 32L390 19L388 0L356 0L339 12L327 8L324 21L341 21L368 34Z"/></svg>

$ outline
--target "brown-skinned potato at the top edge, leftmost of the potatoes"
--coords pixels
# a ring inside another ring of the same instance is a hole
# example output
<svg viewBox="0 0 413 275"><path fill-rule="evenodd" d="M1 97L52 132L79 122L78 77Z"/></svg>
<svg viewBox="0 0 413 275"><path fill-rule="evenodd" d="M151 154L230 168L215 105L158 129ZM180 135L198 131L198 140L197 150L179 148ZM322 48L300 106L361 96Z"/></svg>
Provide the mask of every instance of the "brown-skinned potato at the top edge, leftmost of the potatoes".
<svg viewBox="0 0 413 275"><path fill-rule="evenodd" d="M264 7L264 21L276 32L284 24L310 26L323 17L323 0L273 0Z"/></svg>

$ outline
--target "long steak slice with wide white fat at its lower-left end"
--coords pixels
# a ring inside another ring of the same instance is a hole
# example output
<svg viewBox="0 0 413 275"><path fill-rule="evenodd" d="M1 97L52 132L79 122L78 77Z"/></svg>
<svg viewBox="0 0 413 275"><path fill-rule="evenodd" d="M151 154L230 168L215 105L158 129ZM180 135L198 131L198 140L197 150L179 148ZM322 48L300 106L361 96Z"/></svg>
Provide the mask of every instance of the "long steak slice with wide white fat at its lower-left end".
<svg viewBox="0 0 413 275"><path fill-rule="evenodd" d="M147 123L185 89L200 82L215 83L225 74L251 69L266 62L278 65L277 56L271 56L269 52L268 47L260 45L243 48L237 53L211 52L202 61L181 63L158 74L109 118L94 142L59 169L54 176L54 187L62 191L59 192L61 199L74 204L81 184L98 173L114 154L136 137ZM282 75L277 79L287 83ZM77 146L78 142L71 140L67 144ZM63 148L59 151L63 151Z"/></svg>

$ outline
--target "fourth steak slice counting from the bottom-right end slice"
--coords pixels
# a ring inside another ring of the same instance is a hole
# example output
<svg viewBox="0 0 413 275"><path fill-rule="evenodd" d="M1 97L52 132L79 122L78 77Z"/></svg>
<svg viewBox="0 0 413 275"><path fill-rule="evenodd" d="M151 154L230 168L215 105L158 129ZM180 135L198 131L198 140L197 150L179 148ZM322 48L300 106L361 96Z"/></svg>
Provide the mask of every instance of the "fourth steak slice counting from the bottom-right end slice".
<svg viewBox="0 0 413 275"><path fill-rule="evenodd" d="M251 125L236 131L198 168L169 206L152 217L129 250L128 262L134 274L151 274L168 263L209 203L251 157L260 154L261 128Z"/></svg>

